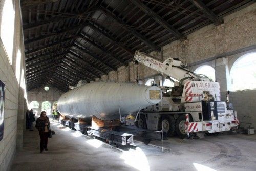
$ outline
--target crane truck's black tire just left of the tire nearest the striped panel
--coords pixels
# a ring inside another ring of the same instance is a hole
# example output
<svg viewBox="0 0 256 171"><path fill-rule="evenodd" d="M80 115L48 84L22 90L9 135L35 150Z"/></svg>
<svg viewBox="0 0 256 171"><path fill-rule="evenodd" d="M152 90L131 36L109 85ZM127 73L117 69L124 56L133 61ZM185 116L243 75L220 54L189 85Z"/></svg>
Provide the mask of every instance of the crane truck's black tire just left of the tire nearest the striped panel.
<svg viewBox="0 0 256 171"><path fill-rule="evenodd" d="M162 129L162 121L163 121L163 129ZM163 119L160 118L159 121L159 130L163 130L164 133L167 134L168 137L172 137L175 135L175 119L172 115L163 115Z"/></svg>

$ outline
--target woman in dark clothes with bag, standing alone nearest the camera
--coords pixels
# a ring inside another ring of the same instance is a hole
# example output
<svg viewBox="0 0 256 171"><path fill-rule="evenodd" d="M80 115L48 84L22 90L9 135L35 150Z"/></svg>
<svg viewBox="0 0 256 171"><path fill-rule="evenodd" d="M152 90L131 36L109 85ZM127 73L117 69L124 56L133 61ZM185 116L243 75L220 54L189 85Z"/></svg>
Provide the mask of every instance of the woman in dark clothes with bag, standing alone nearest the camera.
<svg viewBox="0 0 256 171"><path fill-rule="evenodd" d="M42 111L39 118L36 119L35 127L40 135L40 153L45 149L48 151L48 126L50 126L49 118L46 116L46 111Z"/></svg>

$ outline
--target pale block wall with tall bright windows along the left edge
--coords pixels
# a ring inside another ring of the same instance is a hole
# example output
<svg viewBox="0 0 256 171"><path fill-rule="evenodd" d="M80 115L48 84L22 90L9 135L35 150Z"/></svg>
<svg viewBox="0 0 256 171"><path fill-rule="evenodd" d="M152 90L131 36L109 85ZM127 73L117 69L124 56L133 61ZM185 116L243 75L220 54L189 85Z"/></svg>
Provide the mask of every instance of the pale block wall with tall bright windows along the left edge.
<svg viewBox="0 0 256 171"><path fill-rule="evenodd" d="M19 1L11 0L1 1L0 3L1 26L5 25L6 27L9 27L9 29L12 25L8 22L4 23L5 19L2 18L4 11L3 8L6 3L12 3L15 15L13 15L14 32L8 32L5 34L8 35L8 37L12 37L13 34L13 42L10 42L10 44L4 43L2 35L0 39L0 80L6 86L4 105L4 137L0 141L0 170L8 170L10 168L16 147L22 147L24 114L27 110L26 86L24 81L24 40L22 34L20 5ZM3 30L1 29L0 32L2 31ZM7 53L10 52L7 51L9 48L12 49L12 55ZM19 57L20 60L16 60Z"/></svg>

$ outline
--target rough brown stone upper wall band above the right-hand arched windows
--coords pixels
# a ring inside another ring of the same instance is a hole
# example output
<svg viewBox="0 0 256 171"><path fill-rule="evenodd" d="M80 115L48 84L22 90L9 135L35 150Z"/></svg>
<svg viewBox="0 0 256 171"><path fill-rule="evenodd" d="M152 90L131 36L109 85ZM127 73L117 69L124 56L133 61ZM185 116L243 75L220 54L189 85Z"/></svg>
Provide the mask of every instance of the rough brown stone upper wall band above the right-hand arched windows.
<svg viewBox="0 0 256 171"><path fill-rule="evenodd" d="M255 45L256 4L224 17L224 23L208 25L163 47L163 56L186 59L189 63Z"/></svg>

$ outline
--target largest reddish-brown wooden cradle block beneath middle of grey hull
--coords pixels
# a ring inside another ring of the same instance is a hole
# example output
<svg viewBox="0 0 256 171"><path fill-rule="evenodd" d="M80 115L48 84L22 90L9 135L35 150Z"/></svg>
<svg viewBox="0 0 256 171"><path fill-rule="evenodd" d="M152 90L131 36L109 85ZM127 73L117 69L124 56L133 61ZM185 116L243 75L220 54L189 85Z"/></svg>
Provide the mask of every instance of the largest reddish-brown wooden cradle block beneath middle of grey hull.
<svg viewBox="0 0 256 171"><path fill-rule="evenodd" d="M112 121L105 121L97 118L96 116L92 117L92 127L115 127L115 126L120 126L121 122L120 120L112 120Z"/></svg>

